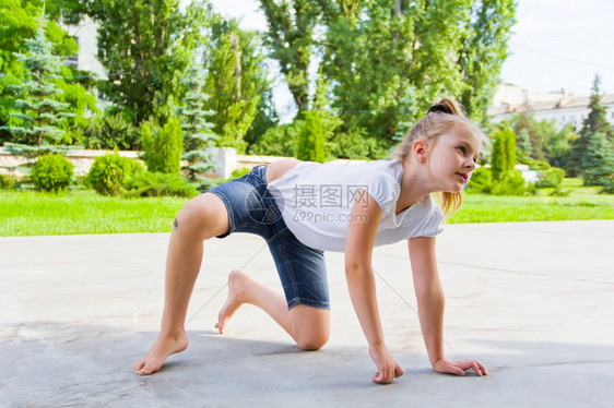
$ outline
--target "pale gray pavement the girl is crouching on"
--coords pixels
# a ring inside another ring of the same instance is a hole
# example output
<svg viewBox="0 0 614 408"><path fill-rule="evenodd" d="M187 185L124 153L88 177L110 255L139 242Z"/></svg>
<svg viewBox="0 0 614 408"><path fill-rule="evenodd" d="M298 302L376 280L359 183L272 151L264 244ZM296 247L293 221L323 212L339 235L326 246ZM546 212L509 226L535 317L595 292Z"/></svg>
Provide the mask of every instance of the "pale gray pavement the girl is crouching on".
<svg viewBox="0 0 614 408"><path fill-rule="evenodd" d="M404 243L376 249L386 338L406 373L373 365L343 276L327 254L332 334L304 352L261 311L213 326L227 273L279 288L264 242L205 243L190 347L151 376L131 365L154 340L168 235L0 238L2 407L612 407L614 221L447 226L438 239L446 352L487 377L432 371Z"/></svg>

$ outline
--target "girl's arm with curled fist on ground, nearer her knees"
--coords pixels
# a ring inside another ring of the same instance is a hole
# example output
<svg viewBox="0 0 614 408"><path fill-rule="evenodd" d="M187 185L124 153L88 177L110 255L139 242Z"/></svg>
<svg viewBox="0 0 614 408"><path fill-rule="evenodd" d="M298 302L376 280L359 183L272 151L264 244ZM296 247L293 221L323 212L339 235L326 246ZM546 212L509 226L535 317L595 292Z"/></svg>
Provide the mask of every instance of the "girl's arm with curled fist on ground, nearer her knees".
<svg viewBox="0 0 614 408"><path fill-rule="evenodd" d="M386 348L377 307L371 252L380 217L381 209L371 196L354 203L345 245L345 275L352 304L378 369L373 381L388 384L404 371Z"/></svg>

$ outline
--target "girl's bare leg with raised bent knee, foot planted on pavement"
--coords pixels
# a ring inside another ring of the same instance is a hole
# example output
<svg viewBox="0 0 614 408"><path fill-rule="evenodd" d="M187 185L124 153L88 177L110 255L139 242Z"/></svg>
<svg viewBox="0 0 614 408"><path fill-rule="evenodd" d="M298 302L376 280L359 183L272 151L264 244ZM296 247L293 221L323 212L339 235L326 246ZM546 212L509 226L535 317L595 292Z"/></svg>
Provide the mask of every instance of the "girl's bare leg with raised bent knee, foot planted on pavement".
<svg viewBox="0 0 614 408"><path fill-rule="evenodd" d="M134 363L138 374L156 372L168 356L188 347L184 323L202 262L202 242L227 230L226 206L212 193L190 200L177 214L166 257L161 331L150 351Z"/></svg>

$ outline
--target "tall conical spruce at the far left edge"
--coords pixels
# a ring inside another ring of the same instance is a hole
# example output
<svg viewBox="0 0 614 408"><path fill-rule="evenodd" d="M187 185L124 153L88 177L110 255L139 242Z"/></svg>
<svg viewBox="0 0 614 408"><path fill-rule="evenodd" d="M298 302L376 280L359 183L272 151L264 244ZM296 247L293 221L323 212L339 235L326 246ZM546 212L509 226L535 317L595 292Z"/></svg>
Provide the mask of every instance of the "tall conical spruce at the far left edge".
<svg viewBox="0 0 614 408"><path fill-rule="evenodd" d="M51 52L51 43L45 37L45 23L43 9L36 36L25 41L27 53L15 56L23 63L26 80L11 86L23 98L15 99L14 108L17 111L11 112L10 116L19 119L21 123L2 127L16 134L24 143L12 144L10 148L26 156L57 152L58 149L49 145L60 142L64 134L61 129L62 120L74 115L68 111L70 104L56 99L57 95L62 93L56 83L61 58Z"/></svg>

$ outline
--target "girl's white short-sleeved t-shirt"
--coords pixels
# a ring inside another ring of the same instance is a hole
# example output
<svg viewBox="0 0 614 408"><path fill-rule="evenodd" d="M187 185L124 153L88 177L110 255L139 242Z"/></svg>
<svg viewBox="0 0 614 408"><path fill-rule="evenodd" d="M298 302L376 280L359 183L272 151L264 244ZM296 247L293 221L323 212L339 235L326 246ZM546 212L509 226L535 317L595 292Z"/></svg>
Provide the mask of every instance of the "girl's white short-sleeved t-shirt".
<svg viewBox="0 0 614 408"><path fill-rule="evenodd" d="M323 165L304 161L269 183L269 191L290 230L300 242L315 249L345 251L352 206L355 201L366 206L370 197L381 208L376 247L415 237L435 237L442 230L444 215L430 195L394 214L403 171L399 160Z"/></svg>

